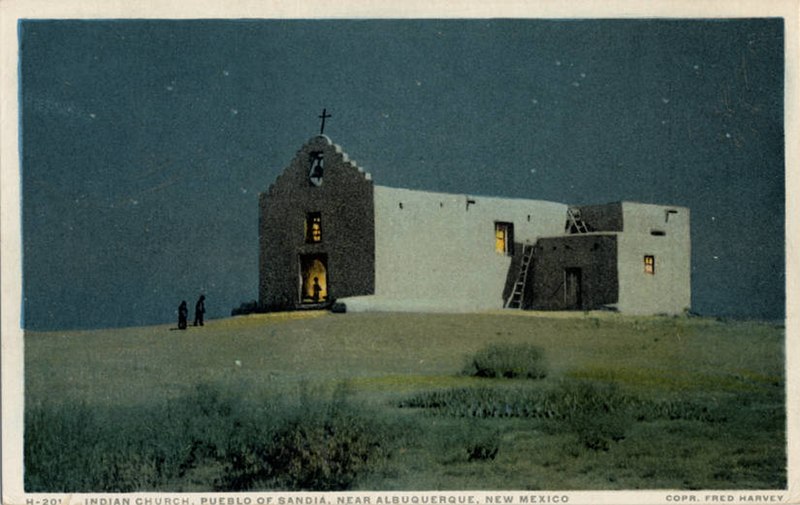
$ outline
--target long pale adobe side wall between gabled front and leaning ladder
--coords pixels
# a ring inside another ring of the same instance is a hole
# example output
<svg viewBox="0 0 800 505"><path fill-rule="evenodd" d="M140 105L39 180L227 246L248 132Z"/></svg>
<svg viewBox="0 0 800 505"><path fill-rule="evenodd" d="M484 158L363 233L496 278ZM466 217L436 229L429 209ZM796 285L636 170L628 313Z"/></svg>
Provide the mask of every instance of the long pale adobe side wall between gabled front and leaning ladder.
<svg viewBox="0 0 800 505"><path fill-rule="evenodd" d="M375 186L375 296L351 299L348 310L500 308L511 257L495 251L495 222L514 223L514 241L533 243L563 233L566 212L553 202Z"/></svg>

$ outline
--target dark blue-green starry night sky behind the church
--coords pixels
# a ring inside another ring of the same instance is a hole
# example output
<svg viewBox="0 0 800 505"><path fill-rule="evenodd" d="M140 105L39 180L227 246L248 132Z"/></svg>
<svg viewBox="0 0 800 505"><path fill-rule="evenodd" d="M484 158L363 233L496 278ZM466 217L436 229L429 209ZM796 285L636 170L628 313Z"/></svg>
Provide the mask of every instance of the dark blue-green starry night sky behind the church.
<svg viewBox="0 0 800 505"><path fill-rule="evenodd" d="M23 326L257 298L319 131L377 184L692 211L693 310L782 319L783 22L23 21ZM432 253L435 253L433 251Z"/></svg>

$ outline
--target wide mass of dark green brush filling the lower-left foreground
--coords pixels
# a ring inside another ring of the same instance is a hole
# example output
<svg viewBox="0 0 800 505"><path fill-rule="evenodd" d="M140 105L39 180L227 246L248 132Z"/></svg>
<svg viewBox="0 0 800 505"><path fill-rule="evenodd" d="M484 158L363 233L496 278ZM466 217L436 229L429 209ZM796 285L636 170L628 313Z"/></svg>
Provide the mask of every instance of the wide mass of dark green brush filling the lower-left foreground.
<svg viewBox="0 0 800 505"><path fill-rule="evenodd" d="M29 492L333 491L381 468L400 430L348 399L301 394L247 401L200 385L168 405L32 405Z"/></svg>

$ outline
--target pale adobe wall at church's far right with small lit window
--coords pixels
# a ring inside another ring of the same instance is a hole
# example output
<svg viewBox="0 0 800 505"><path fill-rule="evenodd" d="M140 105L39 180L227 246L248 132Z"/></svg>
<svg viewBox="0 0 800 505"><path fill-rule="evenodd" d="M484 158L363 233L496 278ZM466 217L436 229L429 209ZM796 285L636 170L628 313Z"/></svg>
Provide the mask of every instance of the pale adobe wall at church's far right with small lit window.
<svg viewBox="0 0 800 505"><path fill-rule="evenodd" d="M618 309L628 314L683 313L691 306L689 209L622 202L622 216ZM645 255L655 257L655 275L645 273Z"/></svg>

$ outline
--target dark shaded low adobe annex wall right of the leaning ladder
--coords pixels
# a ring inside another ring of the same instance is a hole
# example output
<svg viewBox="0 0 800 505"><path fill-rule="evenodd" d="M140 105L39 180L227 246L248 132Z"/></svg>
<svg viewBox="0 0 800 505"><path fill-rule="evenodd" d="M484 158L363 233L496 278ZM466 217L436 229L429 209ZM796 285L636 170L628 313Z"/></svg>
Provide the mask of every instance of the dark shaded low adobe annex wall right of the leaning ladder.
<svg viewBox="0 0 800 505"><path fill-rule="evenodd" d="M525 308L589 310L619 301L617 236L576 234L536 242L530 296ZM565 295L565 270L580 269L581 302L571 306Z"/></svg>

